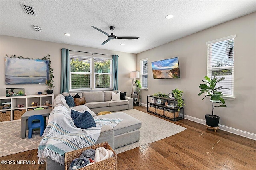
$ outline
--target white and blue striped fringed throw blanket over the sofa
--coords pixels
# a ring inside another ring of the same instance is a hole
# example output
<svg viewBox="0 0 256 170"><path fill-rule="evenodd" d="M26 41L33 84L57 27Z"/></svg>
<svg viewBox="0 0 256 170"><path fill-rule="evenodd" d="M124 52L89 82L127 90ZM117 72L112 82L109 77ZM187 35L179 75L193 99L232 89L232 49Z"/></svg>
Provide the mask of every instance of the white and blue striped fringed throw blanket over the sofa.
<svg viewBox="0 0 256 170"><path fill-rule="evenodd" d="M94 145L100 136L101 127L77 128L66 107L57 105L50 113L37 156L40 161L49 156L64 165L65 153Z"/></svg>

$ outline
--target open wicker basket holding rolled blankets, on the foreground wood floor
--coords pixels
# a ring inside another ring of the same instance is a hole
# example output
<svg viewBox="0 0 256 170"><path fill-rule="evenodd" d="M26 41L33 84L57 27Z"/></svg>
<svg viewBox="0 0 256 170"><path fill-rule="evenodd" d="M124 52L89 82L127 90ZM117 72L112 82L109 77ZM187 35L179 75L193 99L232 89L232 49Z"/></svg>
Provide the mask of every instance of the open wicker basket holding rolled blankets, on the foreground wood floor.
<svg viewBox="0 0 256 170"><path fill-rule="evenodd" d="M74 150L72 152L66 152L65 153L65 169L68 170L71 162L75 159L75 158L79 158L79 156L82 154L82 152L84 152L84 150L87 149L97 149L99 147L104 147L105 149L109 149L114 153L114 156L112 156L111 158L102 160L100 162L96 162L95 164L91 164L89 166L85 166L83 168L79 168L79 170L116 170L117 167L117 157L116 157L116 153L114 152L114 150L110 147L110 145L108 145L107 142L103 142L103 143L99 143L90 147L86 147L86 148L82 148L82 149L78 149L78 150Z"/></svg>

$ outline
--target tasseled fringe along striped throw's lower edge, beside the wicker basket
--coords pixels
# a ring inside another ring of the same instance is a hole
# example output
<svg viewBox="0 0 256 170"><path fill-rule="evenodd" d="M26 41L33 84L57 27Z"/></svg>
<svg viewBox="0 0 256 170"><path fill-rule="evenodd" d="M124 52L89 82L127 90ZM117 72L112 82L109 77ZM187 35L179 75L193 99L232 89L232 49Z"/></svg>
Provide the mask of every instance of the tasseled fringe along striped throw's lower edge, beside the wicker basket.
<svg viewBox="0 0 256 170"><path fill-rule="evenodd" d="M48 148L41 150L38 149L37 157L39 161L46 161L46 158L50 157L52 158L52 160L58 162L60 165L64 165L65 163L65 155L58 154L57 152Z"/></svg>

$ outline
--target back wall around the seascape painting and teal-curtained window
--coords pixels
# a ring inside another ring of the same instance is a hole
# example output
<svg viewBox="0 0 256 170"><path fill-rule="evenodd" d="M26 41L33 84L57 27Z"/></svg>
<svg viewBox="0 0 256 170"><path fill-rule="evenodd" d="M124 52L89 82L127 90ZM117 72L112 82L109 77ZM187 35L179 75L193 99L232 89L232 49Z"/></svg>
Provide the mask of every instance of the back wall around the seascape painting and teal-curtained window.
<svg viewBox="0 0 256 170"><path fill-rule="evenodd" d="M62 48L91 53L118 55L118 90L130 94L130 84L132 81L130 79L130 71L136 70L136 54L0 35L0 96L5 96L6 88L25 87L25 92L28 95L37 94L38 91L43 92L46 90L45 84L5 85L4 57L6 57L6 54L9 57L15 54L16 56L21 55L22 57L30 57L35 59L41 59L42 57L49 54L52 61L51 67L54 69L54 94L60 93L60 67Z"/></svg>

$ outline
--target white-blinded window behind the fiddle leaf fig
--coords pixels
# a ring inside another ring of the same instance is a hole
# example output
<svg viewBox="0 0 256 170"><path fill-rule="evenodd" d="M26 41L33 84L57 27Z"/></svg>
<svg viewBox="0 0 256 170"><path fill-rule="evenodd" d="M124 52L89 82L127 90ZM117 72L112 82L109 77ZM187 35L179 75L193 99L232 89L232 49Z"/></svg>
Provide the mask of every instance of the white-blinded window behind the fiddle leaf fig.
<svg viewBox="0 0 256 170"><path fill-rule="evenodd" d="M222 90L224 96L234 96L234 38L236 35L207 42L207 76L212 79L225 77L216 86L230 90Z"/></svg>

